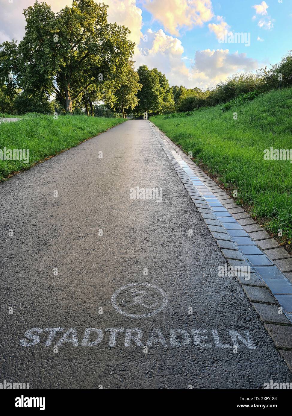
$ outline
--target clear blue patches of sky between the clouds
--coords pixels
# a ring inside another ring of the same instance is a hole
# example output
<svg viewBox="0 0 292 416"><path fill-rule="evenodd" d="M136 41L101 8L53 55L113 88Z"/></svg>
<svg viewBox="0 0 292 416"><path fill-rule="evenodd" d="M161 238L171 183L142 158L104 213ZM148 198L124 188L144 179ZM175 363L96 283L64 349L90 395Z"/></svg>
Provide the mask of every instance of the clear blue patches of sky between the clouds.
<svg viewBox="0 0 292 416"><path fill-rule="evenodd" d="M145 33L148 27L155 31L159 30L162 25L155 20L153 21L151 13L147 12L142 6L143 2L138 2L138 4L142 8L144 23L142 32ZM252 20L252 17L256 15L255 8L252 6L256 4L261 4L261 1L222 0L212 2L214 13L222 16L230 25L231 30L250 32L251 34L250 47L229 44L230 52L234 53L238 50L247 53L249 57L253 57L259 62L273 64L280 61L287 51L292 49L292 0L283 0L282 3L279 3L278 0L267 0L268 16L270 15L273 23L271 30L258 26L261 15L258 15L256 20ZM165 33L171 35L167 30L165 30ZM263 42L258 41L258 37ZM208 25L195 26L191 30L182 28L178 38L182 41L184 47L183 56L190 58L194 58L195 50L221 47L216 37L210 33Z"/></svg>

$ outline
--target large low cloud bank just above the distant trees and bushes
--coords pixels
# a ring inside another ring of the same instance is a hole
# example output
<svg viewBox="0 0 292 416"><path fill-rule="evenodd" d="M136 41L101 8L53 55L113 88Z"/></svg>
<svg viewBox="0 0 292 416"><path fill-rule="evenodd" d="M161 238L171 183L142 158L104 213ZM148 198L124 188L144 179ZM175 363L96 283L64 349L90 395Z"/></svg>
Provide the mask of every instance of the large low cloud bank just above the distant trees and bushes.
<svg viewBox="0 0 292 416"><path fill-rule="evenodd" d="M140 42L139 53L135 55L136 67L142 64L156 67L170 81L170 85L207 88L224 81L235 72L251 71L258 68L257 61L245 53L230 54L229 50L202 50L195 52L195 64L182 57L184 48L179 39L166 35L163 30L152 32L148 29L148 42Z"/></svg>

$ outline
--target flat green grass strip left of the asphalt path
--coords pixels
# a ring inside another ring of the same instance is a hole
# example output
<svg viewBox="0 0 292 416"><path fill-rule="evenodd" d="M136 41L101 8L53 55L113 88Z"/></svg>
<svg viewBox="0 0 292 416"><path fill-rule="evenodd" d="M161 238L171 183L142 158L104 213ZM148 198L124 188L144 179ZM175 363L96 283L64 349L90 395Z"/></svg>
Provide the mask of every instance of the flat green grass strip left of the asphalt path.
<svg viewBox="0 0 292 416"><path fill-rule="evenodd" d="M18 116L13 116L18 117ZM36 162L97 136L124 119L87 116L22 116L20 121L0 124L0 149L29 149L29 163L0 160L0 181L28 169Z"/></svg>

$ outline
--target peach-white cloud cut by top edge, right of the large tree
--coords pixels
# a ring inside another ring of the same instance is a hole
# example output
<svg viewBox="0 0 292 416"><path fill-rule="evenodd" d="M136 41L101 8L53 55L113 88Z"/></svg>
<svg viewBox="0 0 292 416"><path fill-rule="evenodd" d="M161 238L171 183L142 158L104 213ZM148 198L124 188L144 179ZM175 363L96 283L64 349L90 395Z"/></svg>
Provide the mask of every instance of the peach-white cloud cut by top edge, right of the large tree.
<svg viewBox="0 0 292 416"><path fill-rule="evenodd" d="M144 7L171 35L179 29L202 26L213 17L211 0L143 0Z"/></svg>

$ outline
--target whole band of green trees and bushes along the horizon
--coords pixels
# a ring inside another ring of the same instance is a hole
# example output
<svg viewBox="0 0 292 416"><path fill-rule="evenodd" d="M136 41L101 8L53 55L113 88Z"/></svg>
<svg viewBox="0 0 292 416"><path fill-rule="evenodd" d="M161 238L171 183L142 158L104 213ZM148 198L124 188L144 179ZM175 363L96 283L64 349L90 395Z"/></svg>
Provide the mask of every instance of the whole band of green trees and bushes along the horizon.
<svg viewBox="0 0 292 416"><path fill-rule="evenodd" d="M23 14L23 39L0 44L3 114L169 114L292 86L292 52L271 69L235 74L213 89L170 87L156 68L135 71L130 31L107 22L103 3L76 0L54 13L36 1Z"/></svg>

